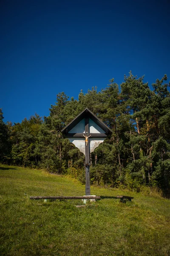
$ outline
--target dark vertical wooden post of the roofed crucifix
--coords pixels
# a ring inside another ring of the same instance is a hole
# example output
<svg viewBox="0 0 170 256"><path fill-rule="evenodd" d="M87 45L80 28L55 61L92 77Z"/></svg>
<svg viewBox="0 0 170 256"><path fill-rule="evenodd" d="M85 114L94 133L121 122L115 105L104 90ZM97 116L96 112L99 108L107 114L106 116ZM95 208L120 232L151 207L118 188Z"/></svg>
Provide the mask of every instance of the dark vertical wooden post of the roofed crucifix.
<svg viewBox="0 0 170 256"><path fill-rule="evenodd" d="M89 135L88 117L85 117L85 135ZM90 142L85 143L85 195L90 195Z"/></svg>

